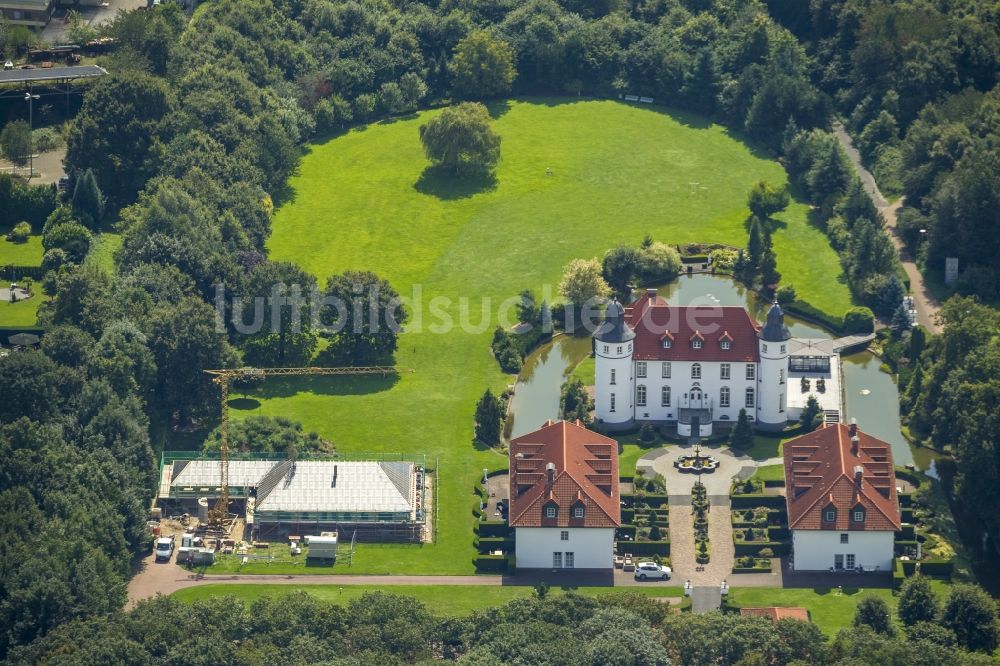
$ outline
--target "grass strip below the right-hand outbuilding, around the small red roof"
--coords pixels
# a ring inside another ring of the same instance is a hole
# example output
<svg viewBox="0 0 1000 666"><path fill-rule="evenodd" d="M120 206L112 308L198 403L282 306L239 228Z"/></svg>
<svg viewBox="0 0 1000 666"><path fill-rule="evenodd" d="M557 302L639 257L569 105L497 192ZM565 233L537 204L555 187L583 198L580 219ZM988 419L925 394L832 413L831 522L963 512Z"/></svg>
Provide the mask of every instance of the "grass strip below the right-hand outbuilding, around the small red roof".
<svg viewBox="0 0 1000 666"><path fill-rule="evenodd" d="M849 583L850 578L845 577ZM931 587L938 600L948 594L948 584L931 580ZM865 595L875 595L885 599L895 617L897 598L892 590L863 589L843 586L842 591L831 588L799 589L780 587L732 587L729 603L739 607L802 607L809 610L810 619L824 634L834 636L837 631L850 627L854 620L854 610Z"/></svg>

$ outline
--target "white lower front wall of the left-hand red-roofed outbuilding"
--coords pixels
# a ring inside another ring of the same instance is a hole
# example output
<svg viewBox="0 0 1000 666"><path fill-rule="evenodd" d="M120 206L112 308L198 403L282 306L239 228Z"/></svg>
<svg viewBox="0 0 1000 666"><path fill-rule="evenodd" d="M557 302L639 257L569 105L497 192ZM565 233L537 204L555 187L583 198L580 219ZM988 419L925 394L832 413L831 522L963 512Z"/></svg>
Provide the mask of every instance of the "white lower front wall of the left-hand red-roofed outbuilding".
<svg viewBox="0 0 1000 666"><path fill-rule="evenodd" d="M518 527L519 569L612 569L613 527Z"/></svg>

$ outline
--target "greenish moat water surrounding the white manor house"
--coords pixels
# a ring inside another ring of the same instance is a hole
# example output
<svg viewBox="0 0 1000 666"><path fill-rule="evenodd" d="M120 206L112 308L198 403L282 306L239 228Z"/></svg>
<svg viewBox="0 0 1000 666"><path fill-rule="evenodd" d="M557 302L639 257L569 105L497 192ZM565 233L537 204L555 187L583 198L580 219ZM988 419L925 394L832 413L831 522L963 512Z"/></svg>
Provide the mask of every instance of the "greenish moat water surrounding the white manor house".
<svg viewBox="0 0 1000 666"><path fill-rule="evenodd" d="M758 302L757 295L743 285L717 275L681 276L658 291L673 305L742 305L758 321L764 318L764 309L769 305ZM796 337L831 337L819 326L792 316L786 315L785 322ZM562 335L528 356L511 402L508 427L512 437L559 417L560 387L590 349L589 336ZM914 452L900 432L899 392L880 365L878 357L869 352L843 357L846 418L856 418L865 432L889 442L897 465L915 463L933 472L934 457L925 449Z"/></svg>

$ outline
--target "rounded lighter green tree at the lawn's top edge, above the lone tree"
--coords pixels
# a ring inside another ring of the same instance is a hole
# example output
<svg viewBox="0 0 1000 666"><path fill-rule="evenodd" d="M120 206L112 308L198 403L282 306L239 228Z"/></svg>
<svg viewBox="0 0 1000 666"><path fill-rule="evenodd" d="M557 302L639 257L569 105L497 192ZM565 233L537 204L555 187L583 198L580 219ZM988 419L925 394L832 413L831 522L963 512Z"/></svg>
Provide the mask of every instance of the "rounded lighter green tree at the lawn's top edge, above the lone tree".
<svg viewBox="0 0 1000 666"><path fill-rule="evenodd" d="M458 97L499 97L510 90L517 75L514 50L488 31L474 30L455 47L451 75Z"/></svg>

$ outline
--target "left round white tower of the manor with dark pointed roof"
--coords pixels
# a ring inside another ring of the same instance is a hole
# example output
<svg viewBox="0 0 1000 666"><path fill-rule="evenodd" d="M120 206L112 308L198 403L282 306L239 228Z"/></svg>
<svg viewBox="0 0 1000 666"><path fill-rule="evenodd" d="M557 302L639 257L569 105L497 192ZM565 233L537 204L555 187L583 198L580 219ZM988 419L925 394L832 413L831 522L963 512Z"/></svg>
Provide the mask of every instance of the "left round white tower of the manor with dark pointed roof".
<svg viewBox="0 0 1000 666"><path fill-rule="evenodd" d="M617 300L611 301L604 321L594 332L594 412L598 422L612 426L632 422L634 341L635 331L625 321L625 308Z"/></svg>

